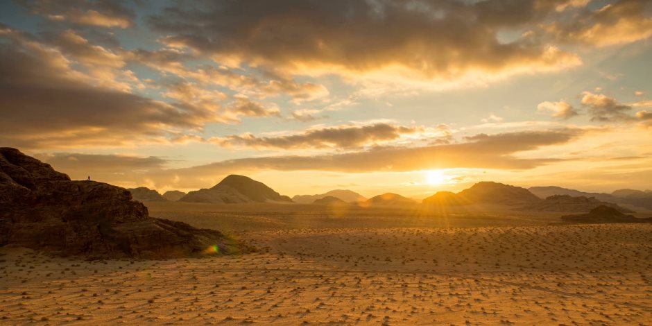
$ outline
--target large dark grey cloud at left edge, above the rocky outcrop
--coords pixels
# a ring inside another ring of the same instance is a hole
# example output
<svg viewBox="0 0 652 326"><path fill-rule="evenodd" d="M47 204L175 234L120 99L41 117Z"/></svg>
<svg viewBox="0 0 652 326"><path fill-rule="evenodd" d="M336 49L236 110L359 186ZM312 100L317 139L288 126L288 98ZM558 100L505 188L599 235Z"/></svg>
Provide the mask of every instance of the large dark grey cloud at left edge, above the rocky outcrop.
<svg viewBox="0 0 652 326"><path fill-rule="evenodd" d="M207 110L168 103L96 83L57 49L0 28L0 142L21 148L130 146L165 142L166 132L199 129ZM10 112L10 113L8 113Z"/></svg>

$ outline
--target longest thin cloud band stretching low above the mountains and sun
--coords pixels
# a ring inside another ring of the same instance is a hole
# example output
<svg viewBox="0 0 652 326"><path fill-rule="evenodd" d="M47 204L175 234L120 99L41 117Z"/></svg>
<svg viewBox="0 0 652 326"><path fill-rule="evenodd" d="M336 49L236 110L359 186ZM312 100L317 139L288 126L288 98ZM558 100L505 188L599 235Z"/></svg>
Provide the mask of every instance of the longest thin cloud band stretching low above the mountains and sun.
<svg viewBox="0 0 652 326"><path fill-rule="evenodd" d="M466 137L465 142L459 144L376 146L368 150L341 154L250 157L183 169L166 169L169 161L160 157L69 153L37 157L43 158L55 169L70 173L73 178L85 178L90 174L96 180L114 182L124 187L145 185L158 189L198 189L212 186L230 173L262 170L367 173L449 168L533 169L560 160L549 157L524 158L518 157L517 154L544 146L567 144L586 132L587 130L565 128L479 134Z"/></svg>

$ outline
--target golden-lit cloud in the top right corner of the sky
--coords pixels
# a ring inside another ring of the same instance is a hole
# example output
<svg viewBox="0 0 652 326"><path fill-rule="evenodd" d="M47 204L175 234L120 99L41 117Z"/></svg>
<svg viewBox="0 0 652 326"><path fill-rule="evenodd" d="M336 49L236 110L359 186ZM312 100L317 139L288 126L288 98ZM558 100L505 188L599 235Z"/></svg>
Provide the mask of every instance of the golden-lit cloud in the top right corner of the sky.
<svg viewBox="0 0 652 326"><path fill-rule="evenodd" d="M646 17L647 0L621 0L597 10L583 10L569 22L546 26L558 42L612 46L644 40L652 35L652 18Z"/></svg>

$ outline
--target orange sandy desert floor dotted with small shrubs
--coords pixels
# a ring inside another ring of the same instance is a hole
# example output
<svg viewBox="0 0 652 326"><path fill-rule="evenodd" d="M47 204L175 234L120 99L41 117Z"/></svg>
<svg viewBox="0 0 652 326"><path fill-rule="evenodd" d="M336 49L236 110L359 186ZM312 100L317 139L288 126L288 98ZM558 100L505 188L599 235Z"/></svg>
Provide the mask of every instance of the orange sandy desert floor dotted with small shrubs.
<svg viewBox="0 0 652 326"><path fill-rule="evenodd" d="M0 323L652 325L652 225L560 214L146 203L259 252L160 261L0 248Z"/></svg>

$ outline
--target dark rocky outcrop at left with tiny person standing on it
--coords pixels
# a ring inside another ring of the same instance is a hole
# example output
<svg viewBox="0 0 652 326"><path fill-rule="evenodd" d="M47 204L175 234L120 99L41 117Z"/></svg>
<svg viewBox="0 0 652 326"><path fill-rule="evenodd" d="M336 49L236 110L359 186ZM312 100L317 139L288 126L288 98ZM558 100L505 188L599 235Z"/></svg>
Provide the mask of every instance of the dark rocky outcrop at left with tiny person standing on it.
<svg viewBox="0 0 652 326"><path fill-rule="evenodd" d="M0 246L9 243L106 258L240 250L216 230L149 217L126 189L71 181L15 148L0 148Z"/></svg>

